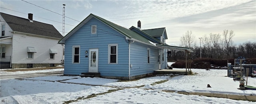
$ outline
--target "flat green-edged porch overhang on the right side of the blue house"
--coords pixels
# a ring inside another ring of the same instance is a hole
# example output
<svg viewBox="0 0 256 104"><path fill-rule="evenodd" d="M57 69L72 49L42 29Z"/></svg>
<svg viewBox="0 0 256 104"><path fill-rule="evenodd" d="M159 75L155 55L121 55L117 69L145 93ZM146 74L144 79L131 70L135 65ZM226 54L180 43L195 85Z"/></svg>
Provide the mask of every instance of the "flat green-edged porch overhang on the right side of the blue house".
<svg viewBox="0 0 256 104"><path fill-rule="evenodd" d="M185 51L188 53L193 53L194 51L187 47L180 47L180 46L169 46L169 45L162 45L162 44L156 44L156 46L161 48L166 48L170 50L178 50L178 51Z"/></svg>

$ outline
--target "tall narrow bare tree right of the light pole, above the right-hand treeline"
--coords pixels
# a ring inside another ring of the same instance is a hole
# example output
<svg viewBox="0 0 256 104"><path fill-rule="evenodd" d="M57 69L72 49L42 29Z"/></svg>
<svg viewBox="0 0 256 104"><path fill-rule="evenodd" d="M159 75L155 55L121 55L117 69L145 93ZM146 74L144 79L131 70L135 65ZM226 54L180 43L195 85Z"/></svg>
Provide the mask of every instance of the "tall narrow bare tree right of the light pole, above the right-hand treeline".
<svg viewBox="0 0 256 104"><path fill-rule="evenodd" d="M228 58L230 58L230 46L232 46L232 38L235 36L234 34L234 31L230 30L224 30L223 31L223 37L224 37L224 42L225 42L225 45L226 45L226 53L227 53L227 56Z"/></svg>

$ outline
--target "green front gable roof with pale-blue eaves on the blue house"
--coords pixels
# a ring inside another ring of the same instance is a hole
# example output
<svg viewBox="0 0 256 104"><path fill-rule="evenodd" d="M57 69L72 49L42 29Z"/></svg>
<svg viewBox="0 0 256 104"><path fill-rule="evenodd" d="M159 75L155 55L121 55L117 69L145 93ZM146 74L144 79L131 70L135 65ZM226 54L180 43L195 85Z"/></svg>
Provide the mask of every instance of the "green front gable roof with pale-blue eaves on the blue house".
<svg viewBox="0 0 256 104"><path fill-rule="evenodd" d="M129 38L129 39L136 39L139 40L141 42L145 42L148 44L151 44L149 42L148 39L146 39L145 37L143 37L142 35L139 35L138 33L130 30L130 29L126 29L120 25L116 25L115 23L112 23L106 19L103 19L102 17L99 17L97 15L94 14L90 14L88 15L81 23L79 23L74 29L72 29L63 39L61 39L59 41L60 44L65 44L65 40L68 39L71 35L73 35L76 31L78 31L83 25L85 25L90 19L92 18L96 18L99 21L105 23L106 25L108 25L109 27L111 27L112 29L118 31L119 33L121 33L122 35L124 35L125 37ZM153 37L152 37L153 38Z"/></svg>

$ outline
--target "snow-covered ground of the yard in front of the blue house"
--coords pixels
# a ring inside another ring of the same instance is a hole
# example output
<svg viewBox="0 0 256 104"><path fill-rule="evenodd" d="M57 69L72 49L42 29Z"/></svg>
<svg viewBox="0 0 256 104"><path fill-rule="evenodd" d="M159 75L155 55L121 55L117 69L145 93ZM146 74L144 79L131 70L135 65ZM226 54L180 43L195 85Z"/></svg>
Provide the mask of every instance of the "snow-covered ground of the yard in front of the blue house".
<svg viewBox="0 0 256 104"><path fill-rule="evenodd" d="M256 91L253 90L238 90L239 81L225 77L227 75L225 69L210 71L192 69L192 71L197 74L161 75L127 82L79 76L6 79L1 80L0 83L0 100L1 104L62 104L68 101L71 104L255 104L255 102L243 100L163 91L256 95ZM158 81L165 82L154 84ZM211 88L207 88L207 84L210 84ZM256 77L248 77L248 85L256 86ZM87 98L93 94L98 95Z"/></svg>

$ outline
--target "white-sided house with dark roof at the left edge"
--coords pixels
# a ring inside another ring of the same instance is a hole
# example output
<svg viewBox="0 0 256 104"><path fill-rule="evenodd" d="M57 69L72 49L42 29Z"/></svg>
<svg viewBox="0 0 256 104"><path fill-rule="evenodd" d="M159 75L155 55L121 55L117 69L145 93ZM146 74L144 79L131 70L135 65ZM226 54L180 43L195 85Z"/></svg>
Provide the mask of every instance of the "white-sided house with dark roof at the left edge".
<svg viewBox="0 0 256 104"><path fill-rule="evenodd" d="M1 13L1 68L48 67L62 64L62 35L53 25Z"/></svg>

